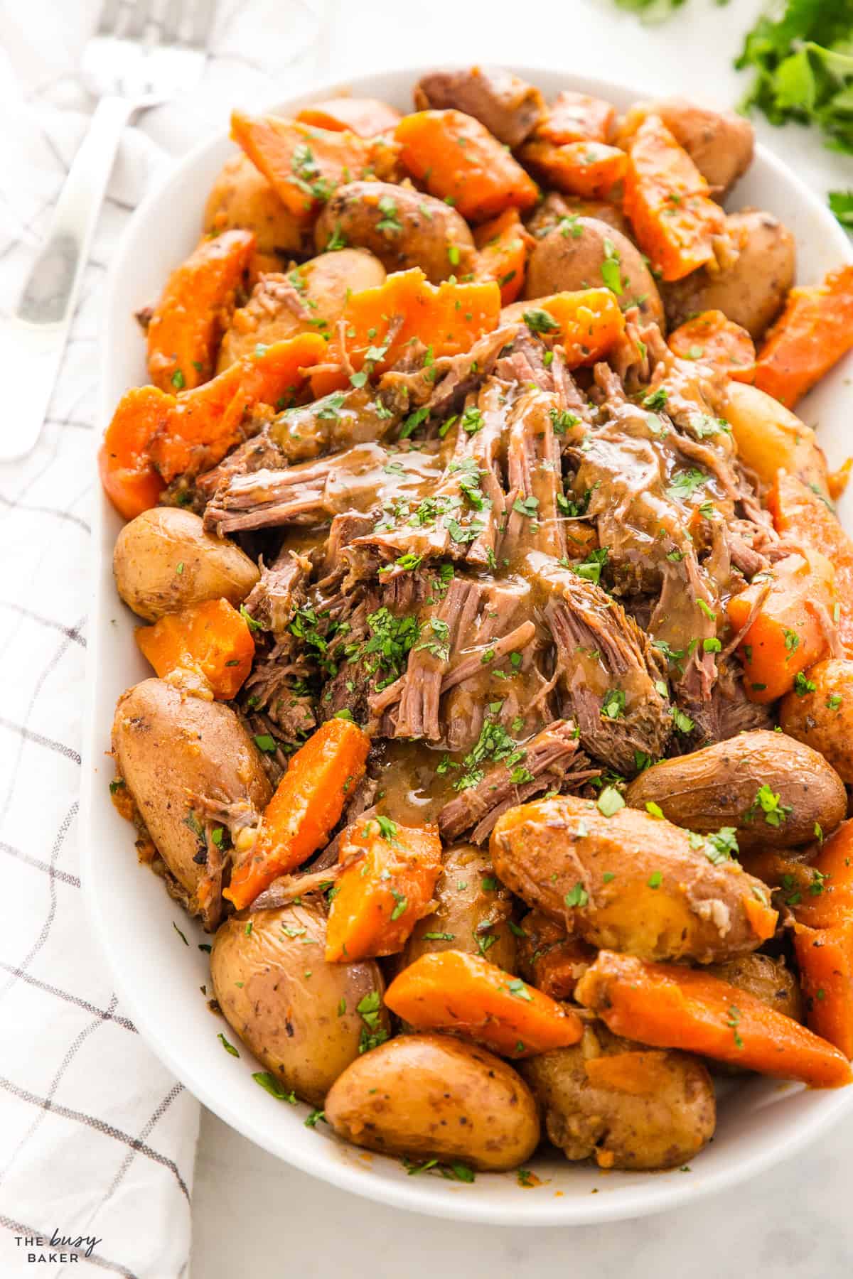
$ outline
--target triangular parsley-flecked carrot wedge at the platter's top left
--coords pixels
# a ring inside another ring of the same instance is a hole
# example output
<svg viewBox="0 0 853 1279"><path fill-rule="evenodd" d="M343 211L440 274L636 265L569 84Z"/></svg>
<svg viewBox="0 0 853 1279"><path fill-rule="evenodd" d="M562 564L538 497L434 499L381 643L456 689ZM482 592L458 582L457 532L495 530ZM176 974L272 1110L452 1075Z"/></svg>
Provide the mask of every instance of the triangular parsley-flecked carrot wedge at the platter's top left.
<svg viewBox="0 0 853 1279"><path fill-rule="evenodd" d="M231 137L303 223L341 182L393 178L396 146L348 129L317 129L279 115L231 113Z"/></svg>

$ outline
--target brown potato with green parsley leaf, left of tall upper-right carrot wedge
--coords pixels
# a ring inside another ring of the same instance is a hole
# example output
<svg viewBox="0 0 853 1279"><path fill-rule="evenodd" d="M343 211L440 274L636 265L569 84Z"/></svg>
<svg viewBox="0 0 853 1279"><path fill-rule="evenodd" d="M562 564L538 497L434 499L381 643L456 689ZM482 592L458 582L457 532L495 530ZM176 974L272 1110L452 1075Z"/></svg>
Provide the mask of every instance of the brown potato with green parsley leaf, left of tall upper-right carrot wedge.
<svg viewBox="0 0 853 1279"><path fill-rule="evenodd" d="M624 281L619 304L636 303L643 320L655 320L662 326L664 304L639 249L615 226L597 217L578 217L568 235L558 226L538 240L527 262L524 297L544 298L563 289L602 288L601 266L607 257L607 243L619 255Z"/></svg>

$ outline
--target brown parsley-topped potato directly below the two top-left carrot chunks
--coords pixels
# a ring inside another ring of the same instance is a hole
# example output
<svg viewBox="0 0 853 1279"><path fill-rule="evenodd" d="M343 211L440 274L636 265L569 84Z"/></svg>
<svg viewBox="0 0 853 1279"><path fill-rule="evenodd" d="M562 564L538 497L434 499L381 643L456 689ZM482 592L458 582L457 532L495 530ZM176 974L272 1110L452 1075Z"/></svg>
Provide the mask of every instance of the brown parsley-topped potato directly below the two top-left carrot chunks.
<svg viewBox="0 0 853 1279"><path fill-rule="evenodd" d="M389 201L385 208L380 208L380 200ZM399 229L389 226L389 221ZM335 231L347 244L370 249L386 271L419 266L432 284L439 284L449 275L473 270L474 242L464 217L442 200L413 187L390 182L348 182L338 187L317 219L318 252ZM457 262L448 256L454 244L459 251Z"/></svg>

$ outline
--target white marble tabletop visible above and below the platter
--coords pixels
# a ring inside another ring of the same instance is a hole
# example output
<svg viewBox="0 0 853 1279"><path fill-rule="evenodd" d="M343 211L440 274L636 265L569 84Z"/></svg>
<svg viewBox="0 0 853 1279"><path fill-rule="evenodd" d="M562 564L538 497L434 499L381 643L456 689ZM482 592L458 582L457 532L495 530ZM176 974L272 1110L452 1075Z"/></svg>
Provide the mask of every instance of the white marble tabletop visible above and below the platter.
<svg viewBox="0 0 853 1279"><path fill-rule="evenodd" d="M826 0L831 3L831 0ZM732 70L758 0L688 0L643 28L610 0L348 0L331 6L327 72L466 59L563 64L734 104ZM806 129L760 136L816 191L853 187L853 160ZM784 215L784 210L778 210ZM573 1230L509 1230L398 1212L297 1173L202 1114L193 1201L194 1279L290 1274L299 1279L492 1279L512 1267L537 1279L716 1279L737 1270L835 1279L853 1270L853 1114L820 1146L760 1181L678 1214ZM535 1192L531 1192L535 1193Z"/></svg>

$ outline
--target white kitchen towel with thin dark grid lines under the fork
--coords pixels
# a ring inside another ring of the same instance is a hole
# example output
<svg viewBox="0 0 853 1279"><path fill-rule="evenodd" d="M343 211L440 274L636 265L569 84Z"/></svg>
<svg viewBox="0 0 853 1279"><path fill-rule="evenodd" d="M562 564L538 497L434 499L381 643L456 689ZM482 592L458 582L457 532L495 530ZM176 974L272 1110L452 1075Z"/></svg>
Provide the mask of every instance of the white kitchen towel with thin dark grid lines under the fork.
<svg viewBox="0 0 853 1279"><path fill-rule="evenodd" d="M316 72L316 49L292 58L288 10L298 8L220 0L202 84L125 132L41 440L0 466L3 1279L188 1274L198 1102L118 1000L78 874L100 302L118 238L170 157L221 129L231 104L251 109ZM75 68L98 9L100 0L0 0L4 313L93 105ZM15 430L1 411L0 430Z"/></svg>

